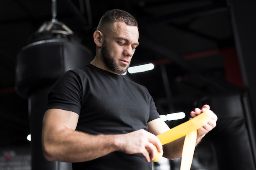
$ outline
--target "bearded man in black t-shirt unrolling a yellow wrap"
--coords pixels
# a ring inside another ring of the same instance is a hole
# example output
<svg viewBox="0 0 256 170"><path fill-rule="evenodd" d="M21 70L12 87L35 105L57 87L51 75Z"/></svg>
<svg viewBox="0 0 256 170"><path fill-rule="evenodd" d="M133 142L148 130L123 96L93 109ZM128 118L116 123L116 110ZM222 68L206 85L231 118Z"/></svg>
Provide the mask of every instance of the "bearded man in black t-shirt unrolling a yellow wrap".
<svg viewBox="0 0 256 170"><path fill-rule="evenodd" d="M144 86L123 75L139 45L135 18L107 11L93 34L96 55L67 71L49 93L43 119L43 152L49 161L72 162L73 170L150 170L156 148L164 157L182 154L184 138L162 146L155 136L169 130ZM195 117L204 110L196 108ZM197 144L217 116L198 130Z"/></svg>

